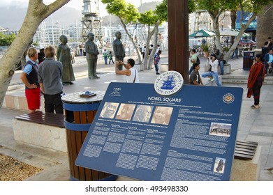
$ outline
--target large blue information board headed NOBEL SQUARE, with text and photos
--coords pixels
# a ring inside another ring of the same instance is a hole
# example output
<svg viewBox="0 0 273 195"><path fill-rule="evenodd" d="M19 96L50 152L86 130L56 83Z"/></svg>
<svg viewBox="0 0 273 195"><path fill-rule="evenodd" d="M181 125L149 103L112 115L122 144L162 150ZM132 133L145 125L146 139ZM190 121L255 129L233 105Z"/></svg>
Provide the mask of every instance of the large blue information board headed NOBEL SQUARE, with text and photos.
<svg viewBox="0 0 273 195"><path fill-rule="evenodd" d="M78 166L138 180L229 180L242 88L111 83Z"/></svg>

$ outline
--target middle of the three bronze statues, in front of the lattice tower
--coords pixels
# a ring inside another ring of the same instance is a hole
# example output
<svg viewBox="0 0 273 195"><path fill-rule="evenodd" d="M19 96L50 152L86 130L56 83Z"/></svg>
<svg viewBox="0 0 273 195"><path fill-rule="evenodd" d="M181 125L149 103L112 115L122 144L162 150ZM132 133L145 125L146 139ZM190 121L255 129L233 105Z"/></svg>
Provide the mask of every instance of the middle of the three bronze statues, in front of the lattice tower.
<svg viewBox="0 0 273 195"><path fill-rule="evenodd" d="M85 51L87 52L87 63L88 63L88 78L99 79L96 75L96 63L98 61L98 47L94 42L94 34L88 33L87 42L84 43Z"/></svg>

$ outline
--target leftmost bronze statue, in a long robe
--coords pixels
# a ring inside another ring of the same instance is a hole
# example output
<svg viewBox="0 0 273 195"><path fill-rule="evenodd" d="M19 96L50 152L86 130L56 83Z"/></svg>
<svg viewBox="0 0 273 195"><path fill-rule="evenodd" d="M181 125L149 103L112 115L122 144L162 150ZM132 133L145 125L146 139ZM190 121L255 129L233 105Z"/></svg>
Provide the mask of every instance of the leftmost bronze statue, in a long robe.
<svg viewBox="0 0 273 195"><path fill-rule="evenodd" d="M57 61L60 61L63 64L63 74L61 75L61 81L64 85L73 84L72 81L75 81L74 72L71 62L71 49L66 44L67 38L64 35L60 36L61 44L57 49Z"/></svg>

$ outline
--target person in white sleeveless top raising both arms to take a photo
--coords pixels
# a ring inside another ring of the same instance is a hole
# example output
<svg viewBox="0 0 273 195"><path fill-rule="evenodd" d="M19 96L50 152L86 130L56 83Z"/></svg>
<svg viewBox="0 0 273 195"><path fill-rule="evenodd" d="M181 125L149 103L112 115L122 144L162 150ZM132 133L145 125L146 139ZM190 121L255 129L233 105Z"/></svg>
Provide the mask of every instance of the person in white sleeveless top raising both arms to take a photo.
<svg viewBox="0 0 273 195"><path fill-rule="evenodd" d="M124 65L125 70L119 70L119 65ZM127 83L139 83L138 79L138 70L136 70L133 66L135 65L135 61L133 59L128 59L127 64L123 61L116 61L116 74L117 75L126 75Z"/></svg>

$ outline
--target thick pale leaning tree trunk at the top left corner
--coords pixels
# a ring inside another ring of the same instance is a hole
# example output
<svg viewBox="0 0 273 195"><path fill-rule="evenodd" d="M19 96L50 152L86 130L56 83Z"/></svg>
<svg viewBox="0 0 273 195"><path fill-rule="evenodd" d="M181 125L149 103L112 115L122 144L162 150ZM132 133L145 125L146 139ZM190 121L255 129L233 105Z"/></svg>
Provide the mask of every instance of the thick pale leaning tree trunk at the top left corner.
<svg viewBox="0 0 273 195"><path fill-rule="evenodd" d="M70 0L56 0L48 6L45 6L41 0L29 0L26 17L13 43L3 54L0 60L0 107L3 105L3 99L15 73L17 63L20 61L25 49L31 42L40 22L43 22L50 14L58 10Z"/></svg>

